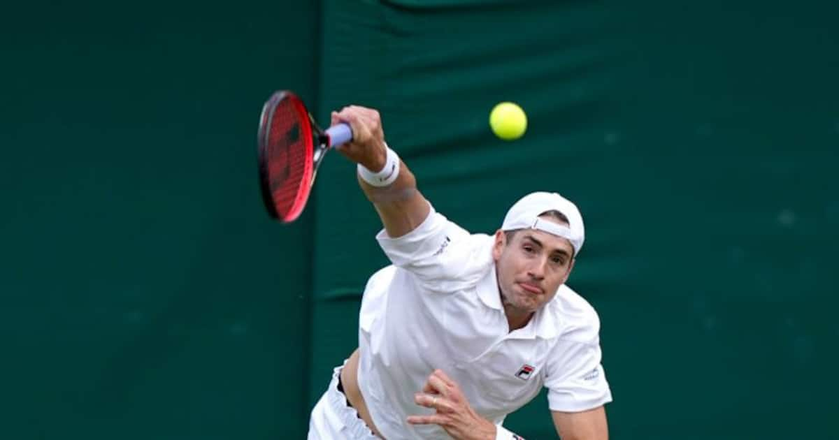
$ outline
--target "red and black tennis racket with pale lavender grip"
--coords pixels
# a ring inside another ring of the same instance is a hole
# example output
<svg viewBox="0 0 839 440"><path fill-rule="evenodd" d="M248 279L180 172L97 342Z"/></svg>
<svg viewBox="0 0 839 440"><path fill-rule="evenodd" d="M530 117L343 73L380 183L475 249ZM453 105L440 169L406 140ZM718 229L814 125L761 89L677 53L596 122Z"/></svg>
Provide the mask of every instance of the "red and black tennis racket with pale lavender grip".
<svg viewBox="0 0 839 440"><path fill-rule="evenodd" d="M259 116L258 133L259 185L268 215L284 223L297 219L326 152L351 140L349 125L323 131L294 93L274 92Z"/></svg>

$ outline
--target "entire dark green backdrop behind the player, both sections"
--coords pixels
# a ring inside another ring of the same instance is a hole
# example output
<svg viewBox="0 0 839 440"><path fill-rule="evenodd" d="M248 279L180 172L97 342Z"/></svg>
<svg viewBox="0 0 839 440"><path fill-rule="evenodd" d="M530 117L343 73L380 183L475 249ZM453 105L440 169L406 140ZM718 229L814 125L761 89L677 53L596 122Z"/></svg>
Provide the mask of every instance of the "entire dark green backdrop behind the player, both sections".
<svg viewBox="0 0 839 440"><path fill-rule="evenodd" d="M835 437L826 3L18 4L4 15L3 437L300 438L387 264L352 164L263 214L259 106L382 111L437 210L586 218L614 438ZM498 101L529 115L488 131ZM545 396L508 418L553 437Z"/></svg>

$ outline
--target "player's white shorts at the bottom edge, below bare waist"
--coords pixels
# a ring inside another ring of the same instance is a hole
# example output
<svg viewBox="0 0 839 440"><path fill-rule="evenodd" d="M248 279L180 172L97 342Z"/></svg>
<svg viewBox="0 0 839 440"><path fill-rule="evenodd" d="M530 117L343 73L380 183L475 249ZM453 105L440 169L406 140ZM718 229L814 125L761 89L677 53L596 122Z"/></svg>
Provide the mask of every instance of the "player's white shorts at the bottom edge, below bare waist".
<svg viewBox="0 0 839 440"><path fill-rule="evenodd" d="M346 360L344 364L347 364ZM338 375L342 368L343 365L333 370L329 388L312 408L308 440L379 439L358 417L356 409L349 406L347 396L338 390Z"/></svg>

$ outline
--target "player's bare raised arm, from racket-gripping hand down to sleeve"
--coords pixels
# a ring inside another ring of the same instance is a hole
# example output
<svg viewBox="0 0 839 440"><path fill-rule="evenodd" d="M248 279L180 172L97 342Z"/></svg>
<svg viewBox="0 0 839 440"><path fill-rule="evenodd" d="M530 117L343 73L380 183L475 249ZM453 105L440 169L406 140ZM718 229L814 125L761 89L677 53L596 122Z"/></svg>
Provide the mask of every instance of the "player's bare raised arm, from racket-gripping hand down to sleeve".
<svg viewBox="0 0 839 440"><path fill-rule="evenodd" d="M388 236L396 238L408 234L429 215L430 204L417 189L414 174L399 158L391 157L388 164L388 145L384 142L382 120L378 111L362 107L347 106L333 111L332 125L347 122L352 127L352 142L338 148L338 151L354 163L367 168L371 173L382 173L386 179L390 173L398 173L395 180L385 186L368 184L358 175L367 199L373 203L382 220ZM393 154L393 153L391 153ZM390 169L399 167L398 171ZM385 170L385 167L388 170Z"/></svg>

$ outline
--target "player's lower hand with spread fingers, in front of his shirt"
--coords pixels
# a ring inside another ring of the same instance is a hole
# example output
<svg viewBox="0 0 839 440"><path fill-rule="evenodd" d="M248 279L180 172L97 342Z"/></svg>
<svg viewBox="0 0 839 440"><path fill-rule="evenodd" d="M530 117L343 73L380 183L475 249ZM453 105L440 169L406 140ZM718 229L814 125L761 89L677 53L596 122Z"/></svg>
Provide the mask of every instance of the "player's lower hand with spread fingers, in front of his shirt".
<svg viewBox="0 0 839 440"><path fill-rule="evenodd" d="M434 408L435 414L429 416L409 416L408 422L414 425L440 425L451 437L458 440L494 440L495 425L479 416L461 387L451 380L442 370L435 370L428 377L422 392L414 396L417 405Z"/></svg>

